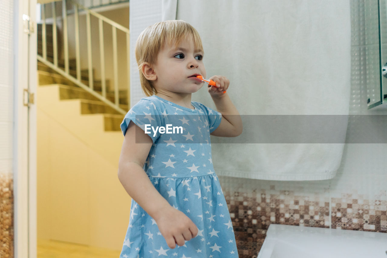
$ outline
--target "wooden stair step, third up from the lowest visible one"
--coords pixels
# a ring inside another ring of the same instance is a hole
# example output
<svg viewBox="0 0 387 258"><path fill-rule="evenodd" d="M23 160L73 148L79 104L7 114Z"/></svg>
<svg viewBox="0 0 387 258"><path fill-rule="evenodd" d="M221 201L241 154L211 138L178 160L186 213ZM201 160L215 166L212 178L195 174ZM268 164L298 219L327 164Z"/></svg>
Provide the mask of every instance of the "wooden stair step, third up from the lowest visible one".
<svg viewBox="0 0 387 258"><path fill-rule="evenodd" d="M93 96L91 93L84 91L84 89L74 86L68 85L59 85L60 90L60 99L61 100L69 100L69 99L84 99L84 100L97 100L100 101L99 98ZM99 95L102 96L101 91L96 91ZM128 106L127 101L127 90L120 90L118 93L119 103ZM106 93L106 98L111 102L115 103L115 95L113 92Z"/></svg>

